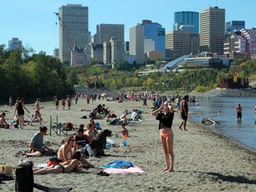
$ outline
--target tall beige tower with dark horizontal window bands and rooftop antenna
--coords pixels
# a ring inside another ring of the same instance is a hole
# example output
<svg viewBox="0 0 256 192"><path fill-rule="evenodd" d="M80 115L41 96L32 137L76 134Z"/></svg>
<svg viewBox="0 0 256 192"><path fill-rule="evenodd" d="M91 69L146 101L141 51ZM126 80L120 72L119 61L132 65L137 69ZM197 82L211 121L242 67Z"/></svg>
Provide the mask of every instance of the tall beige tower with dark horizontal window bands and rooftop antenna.
<svg viewBox="0 0 256 192"><path fill-rule="evenodd" d="M200 51L223 53L225 9L210 7L200 12Z"/></svg>

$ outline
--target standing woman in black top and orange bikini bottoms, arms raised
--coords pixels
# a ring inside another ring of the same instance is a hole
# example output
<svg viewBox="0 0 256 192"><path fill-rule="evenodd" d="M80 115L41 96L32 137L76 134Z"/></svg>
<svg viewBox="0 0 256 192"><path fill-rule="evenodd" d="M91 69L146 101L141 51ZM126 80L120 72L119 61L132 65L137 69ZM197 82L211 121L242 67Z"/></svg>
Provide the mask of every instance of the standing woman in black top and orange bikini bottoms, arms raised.
<svg viewBox="0 0 256 192"><path fill-rule="evenodd" d="M164 110L164 113L160 113ZM156 116L156 120L159 121L158 129L160 130L160 139L164 149L166 168L164 172L173 172L174 166L174 152L173 152L173 132L172 132L172 120L173 120L173 108L167 102L164 102L160 108L157 108L152 112L153 116ZM171 162L170 162L171 157Z"/></svg>

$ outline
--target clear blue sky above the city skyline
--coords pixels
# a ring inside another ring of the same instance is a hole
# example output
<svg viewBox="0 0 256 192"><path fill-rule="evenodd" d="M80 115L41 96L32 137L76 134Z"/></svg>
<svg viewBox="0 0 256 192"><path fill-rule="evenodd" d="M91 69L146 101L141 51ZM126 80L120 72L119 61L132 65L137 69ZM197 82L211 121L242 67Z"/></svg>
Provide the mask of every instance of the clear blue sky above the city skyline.
<svg viewBox="0 0 256 192"><path fill-rule="evenodd" d="M170 31L174 12L200 12L216 5L226 9L226 21L245 20L245 28L256 27L255 0L0 0L0 44L7 48L8 41L18 37L23 46L52 55L59 47L59 24L54 12L64 4L89 7L92 35L97 24L124 24L126 41L129 28L142 20L158 22Z"/></svg>

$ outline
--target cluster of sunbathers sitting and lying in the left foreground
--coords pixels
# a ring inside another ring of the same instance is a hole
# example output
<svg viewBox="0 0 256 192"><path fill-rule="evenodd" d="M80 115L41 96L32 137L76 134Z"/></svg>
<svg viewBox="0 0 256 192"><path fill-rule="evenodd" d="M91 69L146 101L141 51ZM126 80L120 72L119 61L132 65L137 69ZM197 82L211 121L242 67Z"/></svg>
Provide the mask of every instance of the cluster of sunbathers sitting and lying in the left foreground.
<svg viewBox="0 0 256 192"><path fill-rule="evenodd" d="M61 141L61 146L58 151L54 151L52 148L48 148L46 145L44 145L44 135L47 134L47 130L48 129L46 126L40 126L39 132L35 133L35 135L32 137L32 139L28 144L28 148L30 148L30 153L21 153L20 155L21 156L57 155L58 158L60 159L60 162L56 164L48 164L47 167L44 167L43 169L35 168L34 169L35 174L71 172L71 171L80 171L83 168L95 168L93 164L90 164L85 159L86 154L84 153L84 150L81 149L81 148L84 148L87 144L90 147L90 141L92 142L93 137L96 134L94 133L96 130L95 128L93 128L92 124L87 124L86 130L84 130L84 124L81 124L80 129L77 131L76 135L70 135ZM87 135L85 135L85 133ZM96 150L92 150L92 154L96 156L97 155Z"/></svg>

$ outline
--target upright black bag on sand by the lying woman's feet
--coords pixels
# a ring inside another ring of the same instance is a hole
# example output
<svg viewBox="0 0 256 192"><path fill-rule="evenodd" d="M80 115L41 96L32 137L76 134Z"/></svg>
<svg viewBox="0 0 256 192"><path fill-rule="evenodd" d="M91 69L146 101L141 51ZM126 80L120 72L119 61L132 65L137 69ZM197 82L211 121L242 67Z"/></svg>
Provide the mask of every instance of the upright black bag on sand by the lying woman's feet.
<svg viewBox="0 0 256 192"><path fill-rule="evenodd" d="M34 188L34 175L32 166L20 166L16 169L16 192L32 192Z"/></svg>

